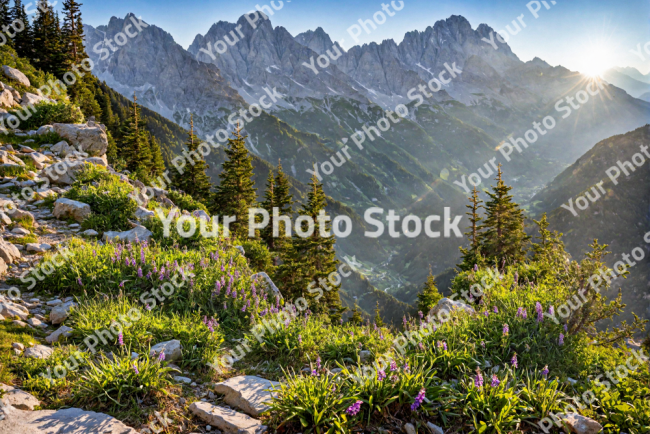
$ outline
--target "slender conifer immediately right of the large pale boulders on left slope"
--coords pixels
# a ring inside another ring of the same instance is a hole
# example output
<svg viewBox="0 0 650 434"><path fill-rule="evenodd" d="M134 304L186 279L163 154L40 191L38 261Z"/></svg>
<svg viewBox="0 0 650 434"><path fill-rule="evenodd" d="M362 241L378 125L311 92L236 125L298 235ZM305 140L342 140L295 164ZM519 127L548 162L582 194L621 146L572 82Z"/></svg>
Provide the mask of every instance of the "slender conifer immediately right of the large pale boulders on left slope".
<svg viewBox="0 0 650 434"><path fill-rule="evenodd" d="M123 131L121 156L124 158L126 169L133 173L135 178L147 182L151 168L151 150L137 101L134 92L129 122Z"/></svg>

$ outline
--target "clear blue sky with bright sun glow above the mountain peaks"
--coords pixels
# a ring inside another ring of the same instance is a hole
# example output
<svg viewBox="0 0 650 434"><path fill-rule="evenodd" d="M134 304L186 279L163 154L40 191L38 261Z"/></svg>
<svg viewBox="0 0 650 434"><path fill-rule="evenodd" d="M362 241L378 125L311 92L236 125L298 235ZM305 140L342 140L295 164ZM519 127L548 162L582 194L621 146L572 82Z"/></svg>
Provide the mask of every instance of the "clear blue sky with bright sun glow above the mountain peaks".
<svg viewBox="0 0 650 434"><path fill-rule="evenodd" d="M207 32L213 23L236 21L255 5L270 3L265 0L81 1L88 24L105 24L111 16L124 17L133 12L171 33L184 47L197 33ZM634 66L643 73L650 71L650 53L643 51L643 45L650 41L647 0L557 0L555 5L547 0L551 8L546 10L540 5L537 19L526 7L527 3L528 0L404 0L400 12L359 39L367 43L392 38L399 43L407 31L424 30L453 14L463 15L473 28L486 23L499 30L524 14L527 27L508 41L522 60L538 56L552 65L561 64L581 72L611 66ZM381 9L381 4L381 0L290 0L276 11L271 22L274 26L284 26L293 35L320 26L332 39L344 38L344 46L349 48L354 44L350 44L352 38L347 29L359 19L370 19ZM399 6L399 2L396 4ZM644 59L630 52L639 43Z"/></svg>

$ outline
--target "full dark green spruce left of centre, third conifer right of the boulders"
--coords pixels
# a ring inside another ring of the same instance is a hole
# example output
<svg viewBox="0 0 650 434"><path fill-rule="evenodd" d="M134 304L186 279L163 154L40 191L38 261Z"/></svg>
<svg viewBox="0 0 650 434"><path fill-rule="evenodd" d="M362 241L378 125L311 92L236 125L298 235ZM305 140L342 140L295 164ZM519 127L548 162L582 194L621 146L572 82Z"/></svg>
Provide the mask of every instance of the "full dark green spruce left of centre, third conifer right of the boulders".
<svg viewBox="0 0 650 434"><path fill-rule="evenodd" d="M225 150L228 158L219 174L221 183L216 189L213 210L223 216L234 216L237 220L230 224L231 235L235 238L248 237L248 210L255 207L257 189L253 182L253 159L246 149L246 136L238 127L233 137L228 139Z"/></svg>

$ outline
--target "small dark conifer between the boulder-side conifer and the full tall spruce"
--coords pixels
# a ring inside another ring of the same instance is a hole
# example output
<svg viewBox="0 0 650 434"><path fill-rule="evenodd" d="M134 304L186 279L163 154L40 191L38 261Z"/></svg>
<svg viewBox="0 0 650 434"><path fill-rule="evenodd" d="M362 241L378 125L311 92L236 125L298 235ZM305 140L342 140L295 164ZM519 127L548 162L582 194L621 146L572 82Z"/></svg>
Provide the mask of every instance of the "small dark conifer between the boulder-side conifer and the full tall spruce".
<svg viewBox="0 0 650 434"><path fill-rule="evenodd" d="M201 140L194 134L194 117L190 116L190 131L185 142L185 147L187 148L188 155L192 156L192 160L185 164L182 174L180 171L176 171L173 184L196 200L207 203L210 199L212 183L205 173L208 165L203 156L198 152L200 144ZM160 150L160 148L158 149ZM162 160L162 155L160 159Z"/></svg>

